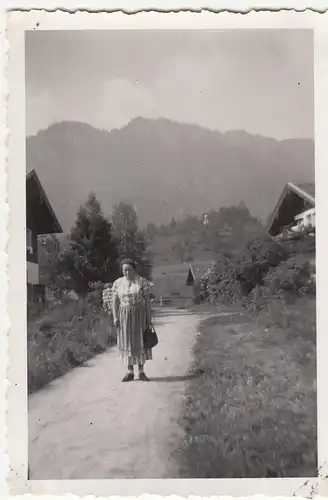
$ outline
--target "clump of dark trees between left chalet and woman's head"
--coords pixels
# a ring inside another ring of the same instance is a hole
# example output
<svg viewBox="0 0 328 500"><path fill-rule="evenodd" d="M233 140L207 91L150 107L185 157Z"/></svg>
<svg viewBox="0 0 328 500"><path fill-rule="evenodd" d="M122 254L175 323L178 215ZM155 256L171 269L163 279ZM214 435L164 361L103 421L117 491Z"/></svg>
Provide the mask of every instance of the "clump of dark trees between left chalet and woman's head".
<svg viewBox="0 0 328 500"><path fill-rule="evenodd" d="M80 207L65 241L55 235L39 239L42 282L73 289L78 294L90 291L95 282L113 282L120 276L120 262L124 258L135 260L139 272L151 277L147 238L138 226L135 209L120 202L114 206L109 220L94 194Z"/></svg>

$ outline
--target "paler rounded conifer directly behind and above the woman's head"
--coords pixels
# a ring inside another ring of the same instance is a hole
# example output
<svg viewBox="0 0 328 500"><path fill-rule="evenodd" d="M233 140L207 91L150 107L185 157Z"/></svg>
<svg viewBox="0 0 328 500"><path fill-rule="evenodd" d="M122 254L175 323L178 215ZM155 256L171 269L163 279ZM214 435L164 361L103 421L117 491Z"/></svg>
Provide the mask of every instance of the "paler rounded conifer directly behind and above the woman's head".
<svg viewBox="0 0 328 500"><path fill-rule="evenodd" d="M147 238L138 227L138 216L135 209L120 202L113 208L113 234L117 241L120 258L133 259L138 271L145 278L151 277L151 261L147 255Z"/></svg>

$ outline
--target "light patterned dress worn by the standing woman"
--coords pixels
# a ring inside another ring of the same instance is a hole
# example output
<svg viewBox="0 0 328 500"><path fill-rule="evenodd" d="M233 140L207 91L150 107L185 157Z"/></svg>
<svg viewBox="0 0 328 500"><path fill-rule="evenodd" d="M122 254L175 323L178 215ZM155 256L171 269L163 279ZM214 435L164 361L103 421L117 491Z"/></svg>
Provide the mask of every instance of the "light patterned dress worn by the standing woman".
<svg viewBox="0 0 328 500"><path fill-rule="evenodd" d="M119 319L117 344L125 365L144 364L152 359L151 349L143 345L150 295L150 283L139 276L132 282L119 278L113 284L113 315Z"/></svg>

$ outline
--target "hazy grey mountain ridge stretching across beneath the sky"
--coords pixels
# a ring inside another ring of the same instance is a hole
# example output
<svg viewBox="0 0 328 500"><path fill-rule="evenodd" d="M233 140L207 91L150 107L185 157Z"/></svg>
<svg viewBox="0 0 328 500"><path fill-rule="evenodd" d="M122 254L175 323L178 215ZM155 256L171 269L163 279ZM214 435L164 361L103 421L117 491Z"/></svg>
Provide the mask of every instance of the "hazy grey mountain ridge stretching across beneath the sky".
<svg viewBox="0 0 328 500"><path fill-rule="evenodd" d="M166 118L138 117L110 132L63 121L27 137L26 166L37 171L65 230L91 191L106 215L122 199L133 204L142 225L241 200L263 220L286 182L313 181L314 142Z"/></svg>

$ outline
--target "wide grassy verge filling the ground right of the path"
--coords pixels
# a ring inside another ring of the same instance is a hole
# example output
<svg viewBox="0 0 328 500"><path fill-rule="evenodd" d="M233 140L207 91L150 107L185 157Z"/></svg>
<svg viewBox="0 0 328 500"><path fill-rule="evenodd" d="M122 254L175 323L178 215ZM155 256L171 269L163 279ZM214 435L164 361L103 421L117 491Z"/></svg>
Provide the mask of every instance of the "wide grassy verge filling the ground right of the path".
<svg viewBox="0 0 328 500"><path fill-rule="evenodd" d="M316 475L315 301L204 321L176 451L180 477Z"/></svg>

